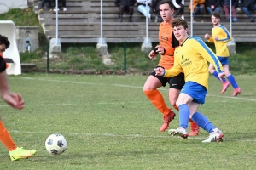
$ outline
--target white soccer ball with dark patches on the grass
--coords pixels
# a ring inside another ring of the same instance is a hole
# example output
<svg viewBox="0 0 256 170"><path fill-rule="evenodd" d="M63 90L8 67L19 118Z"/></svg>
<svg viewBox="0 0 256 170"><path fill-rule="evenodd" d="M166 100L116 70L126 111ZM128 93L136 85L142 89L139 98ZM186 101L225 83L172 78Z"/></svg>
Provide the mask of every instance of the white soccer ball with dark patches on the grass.
<svg viewBox="0 0 256 170"><path fill-rule="evenodd" d="M61 134L54 133L45 140L45 148L50 154L60 155L67 150L67 141Z"/></svg>

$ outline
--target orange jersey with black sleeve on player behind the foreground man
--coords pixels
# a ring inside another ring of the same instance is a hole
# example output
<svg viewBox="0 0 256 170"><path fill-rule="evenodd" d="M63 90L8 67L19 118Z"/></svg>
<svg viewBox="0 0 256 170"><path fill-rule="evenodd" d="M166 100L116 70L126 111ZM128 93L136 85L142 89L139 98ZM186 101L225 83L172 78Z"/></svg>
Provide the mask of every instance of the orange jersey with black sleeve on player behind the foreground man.
<svg viewBox="0 0 256 170"><path fill-rule="evenodd" d="M165 54L160 55L159 66L165 69L171 69L174 64L174 50L179 46L179 42L174 37L172 33L171 24L166 24L165 22L160 23L159 26L159 42L160 46L165 48Z"/></svg>

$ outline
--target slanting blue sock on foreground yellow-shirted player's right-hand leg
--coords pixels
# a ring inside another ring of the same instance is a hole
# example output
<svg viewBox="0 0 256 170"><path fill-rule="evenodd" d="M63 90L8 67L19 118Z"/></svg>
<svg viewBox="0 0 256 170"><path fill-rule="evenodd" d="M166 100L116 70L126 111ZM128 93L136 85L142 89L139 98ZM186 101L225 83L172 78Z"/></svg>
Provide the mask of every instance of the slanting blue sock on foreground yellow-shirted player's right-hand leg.
<svg viewBox="0 0 256 170"><path fill-rule="evenodd" d="M206 130L208 133L212 133L213 129L216 128L212 124L212 122L209 122L206 116L202 115L199 112L195 112L194 115L191 118L199 127Z"/></svg>

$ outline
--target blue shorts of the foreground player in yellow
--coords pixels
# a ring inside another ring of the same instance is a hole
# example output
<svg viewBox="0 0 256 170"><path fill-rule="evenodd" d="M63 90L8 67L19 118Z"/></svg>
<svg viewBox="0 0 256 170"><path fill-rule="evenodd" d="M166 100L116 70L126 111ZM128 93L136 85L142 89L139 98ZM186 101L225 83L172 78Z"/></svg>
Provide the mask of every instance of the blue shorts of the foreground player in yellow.
<svg viewBox="0 0 256 170"><path fill-rule="evenodd" d="M207 88L196 82L186 82L180 93L188 94L195 103L204 104Z"/></svg>

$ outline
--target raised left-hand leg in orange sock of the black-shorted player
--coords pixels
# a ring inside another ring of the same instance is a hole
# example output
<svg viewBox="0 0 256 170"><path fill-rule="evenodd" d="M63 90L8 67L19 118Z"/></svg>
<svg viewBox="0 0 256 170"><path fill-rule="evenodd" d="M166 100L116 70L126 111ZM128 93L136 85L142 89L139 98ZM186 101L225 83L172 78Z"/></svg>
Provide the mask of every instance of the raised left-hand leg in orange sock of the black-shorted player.
<svg viewBox="0 0 256 170"><path fill-rule="evenodd" d="M168 79L166 77L156 77L155 71L153 71L148 77L147 81L144 84L143 92L146 94L151 103L155 108L163 114L164 124L170 123L174 118L175 114L167 107L166 102L157 88L166 86ZM166 127L167 128L167 127ZM160 132L165 131L166 129L160 128Z"/></svg>

